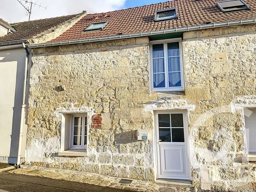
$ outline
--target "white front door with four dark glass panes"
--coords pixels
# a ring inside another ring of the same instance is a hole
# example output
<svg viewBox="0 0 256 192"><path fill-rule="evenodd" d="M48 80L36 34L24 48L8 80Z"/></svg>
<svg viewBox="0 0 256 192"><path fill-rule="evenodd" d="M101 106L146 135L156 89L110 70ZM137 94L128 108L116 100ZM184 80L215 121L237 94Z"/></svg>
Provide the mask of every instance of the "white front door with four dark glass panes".
<svg viewBox="0 0 256 192"><path fill-rule="evenodd" d="M158 178L190 180L184 111L156 112Z"/></svg>

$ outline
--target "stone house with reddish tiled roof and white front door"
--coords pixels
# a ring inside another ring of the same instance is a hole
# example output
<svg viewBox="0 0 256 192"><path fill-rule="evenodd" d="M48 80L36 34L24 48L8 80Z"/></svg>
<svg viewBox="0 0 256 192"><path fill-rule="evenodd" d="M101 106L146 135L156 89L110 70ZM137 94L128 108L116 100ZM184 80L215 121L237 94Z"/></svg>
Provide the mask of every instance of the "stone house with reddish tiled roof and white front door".
<svg viewBox="0 0 256 192"><path fill-rule="evenodd" d="M255 188L255 16L255 0L173 0L28 45L25 164Z"/></svg>

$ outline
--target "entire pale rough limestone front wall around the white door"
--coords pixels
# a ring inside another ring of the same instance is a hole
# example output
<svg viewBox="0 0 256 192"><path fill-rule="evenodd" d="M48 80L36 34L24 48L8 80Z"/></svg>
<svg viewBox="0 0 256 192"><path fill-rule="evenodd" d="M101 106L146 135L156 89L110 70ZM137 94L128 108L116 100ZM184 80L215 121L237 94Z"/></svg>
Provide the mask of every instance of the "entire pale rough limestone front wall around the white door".
<svg viewBox="0 0 256 192"><path fill-rule="evenodd" d="M184 109L194 186L200 168L212 189L255 186L255 164L234 162L247 155L243 108L256 107L255 26L186 32L182 45L185 91L167 93L150 92L148 38L34 49L26 163L154 181L153 110ZM58 156L62 112L88 112L88 156Z"/></svg>

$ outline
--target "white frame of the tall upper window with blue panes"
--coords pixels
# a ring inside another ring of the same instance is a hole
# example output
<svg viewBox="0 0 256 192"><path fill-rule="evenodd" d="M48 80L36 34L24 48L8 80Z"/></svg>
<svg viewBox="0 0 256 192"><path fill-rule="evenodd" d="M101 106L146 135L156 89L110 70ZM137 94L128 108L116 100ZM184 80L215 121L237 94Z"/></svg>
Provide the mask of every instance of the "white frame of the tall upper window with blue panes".
<svg viewBox="0 0 256 192"><path fill-rule="evenodd" d="M169 76L168 76L168 48L167 43L179 42L180 48L180 87L169 87ZM164 44L164 76L165 76L165 87L164 88L154 88L154 75L153 75L153 44ZM156 40L150 42L150 89L151 91L166 92L166 91L184 91L184 70L183 70L183 58L182 58L182 39L166 39L166 40Z"/></svg>

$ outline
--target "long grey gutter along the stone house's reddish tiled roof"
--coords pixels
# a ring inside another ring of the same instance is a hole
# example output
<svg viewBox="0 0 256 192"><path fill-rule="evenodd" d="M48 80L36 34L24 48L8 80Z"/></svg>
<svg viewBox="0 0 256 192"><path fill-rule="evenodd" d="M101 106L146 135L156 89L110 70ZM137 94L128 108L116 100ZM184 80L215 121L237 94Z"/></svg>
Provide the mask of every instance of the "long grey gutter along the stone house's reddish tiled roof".
<svg viewBox="0 0 256 192"><path fill-rule="evenodd" d="M144 37L144 36L152 36L152 35L177 33L177 32L188 32L188 31L194 31L194 30L202 30L202 29L210 29L210 28L218 28L218 27L228 27L228 26L244 25L244 24L254 24L254 23L256 23L256 19L240 20L240 21L222 22L222 23L216 23L216 24L192 26L192 27L183 27L183 28L176 28L176 29L169 29L169 30L161 30L161 31L155 31L155 32L143 32L143 33L110 36L110 37L102 37L102 38L72 40L72 41L43 43L43 44L32 44L32 45L28 45L28 48L39 48L39 47L48 47L48 46L59 46L59 45L107 41L107 40L118 40L118 39L125 39L125 38Z"/></svg>

